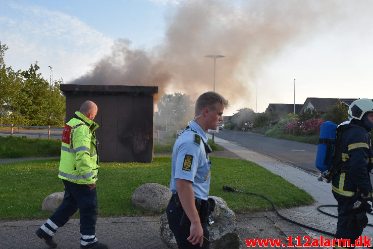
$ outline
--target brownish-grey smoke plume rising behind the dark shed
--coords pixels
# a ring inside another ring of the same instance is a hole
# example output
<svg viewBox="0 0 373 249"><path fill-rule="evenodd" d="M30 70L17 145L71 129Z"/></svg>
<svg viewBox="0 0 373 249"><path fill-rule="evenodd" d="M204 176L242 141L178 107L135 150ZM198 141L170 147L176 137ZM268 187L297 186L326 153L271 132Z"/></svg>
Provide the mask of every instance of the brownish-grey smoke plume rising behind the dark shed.
<svg viewBox="0 0 373 249"><path fill-rule="evenodd" d="M112 54L72 84L156 85L190 96L212 90L232 105L252 98L255 78L283 49L312 38L343 18L334 1L186 1L171 14L162 44L152 51L118 40Z"/></svg>

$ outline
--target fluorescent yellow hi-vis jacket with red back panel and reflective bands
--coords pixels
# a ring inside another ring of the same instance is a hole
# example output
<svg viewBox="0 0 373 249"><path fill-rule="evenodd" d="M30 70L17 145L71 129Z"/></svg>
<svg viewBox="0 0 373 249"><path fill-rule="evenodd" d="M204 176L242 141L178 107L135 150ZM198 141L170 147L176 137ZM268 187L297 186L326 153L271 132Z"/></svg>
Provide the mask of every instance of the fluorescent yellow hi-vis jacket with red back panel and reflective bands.
<svg viewBox="0 0 373 249"><path fill-rule="evenodd" d="M98 125L80 112L75 112L62 134L61 179L78 184L91 184L98 176L97 141L94 131Z"/></svg>

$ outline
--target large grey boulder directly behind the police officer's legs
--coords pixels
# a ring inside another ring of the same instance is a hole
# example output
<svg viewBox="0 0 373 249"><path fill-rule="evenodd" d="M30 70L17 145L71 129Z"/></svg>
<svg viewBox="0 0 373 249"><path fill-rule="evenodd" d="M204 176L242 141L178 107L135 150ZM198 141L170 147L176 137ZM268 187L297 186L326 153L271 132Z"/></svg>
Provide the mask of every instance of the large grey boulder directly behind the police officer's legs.
<svg viewBox="0 0 373 249"><path fill-rule="evenodd" d="M238 236L238 227L236 215L228 208L227 203L220 197L209 196L214 198L216 206L211 215L214 224L208 227L210 233L210 249L240 248L240 238ZM170 230L167 221L167 215L161 216L161 239L166 245L172 249L177 249L175 236Z"/></svg>

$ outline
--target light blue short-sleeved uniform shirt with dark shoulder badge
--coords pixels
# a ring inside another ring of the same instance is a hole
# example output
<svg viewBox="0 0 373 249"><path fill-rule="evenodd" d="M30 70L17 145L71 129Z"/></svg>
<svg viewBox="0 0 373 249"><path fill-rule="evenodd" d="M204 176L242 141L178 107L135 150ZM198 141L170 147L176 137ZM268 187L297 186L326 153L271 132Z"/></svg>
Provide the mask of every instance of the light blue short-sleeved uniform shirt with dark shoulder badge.
<svg viewBox="0 0 373 249"><path fill-rule="evenodd" d="M198 136L200 137L198 143ZM207 136L202 128L191 121L189 128L180 133L172 151L172 168L170 189L177 192L176 179L192 182L194 196L207 200L210 188L210 167L204 144Z"/></svg>

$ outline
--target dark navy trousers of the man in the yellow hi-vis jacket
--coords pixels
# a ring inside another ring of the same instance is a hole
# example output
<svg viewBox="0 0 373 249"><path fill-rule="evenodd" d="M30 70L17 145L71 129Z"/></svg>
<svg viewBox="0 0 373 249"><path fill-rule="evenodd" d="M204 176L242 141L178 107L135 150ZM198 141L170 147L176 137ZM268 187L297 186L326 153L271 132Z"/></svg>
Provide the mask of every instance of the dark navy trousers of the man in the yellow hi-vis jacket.
<svg viewBox="0 0 373 249"><path fill-rule="evenodd" d="M80 233L82 235L94 235L98 214L96 188L89 190L90 187L86 184L62 181L65 184L64 200L49 219L58 227L62 227L79 208Z"/></svg>

